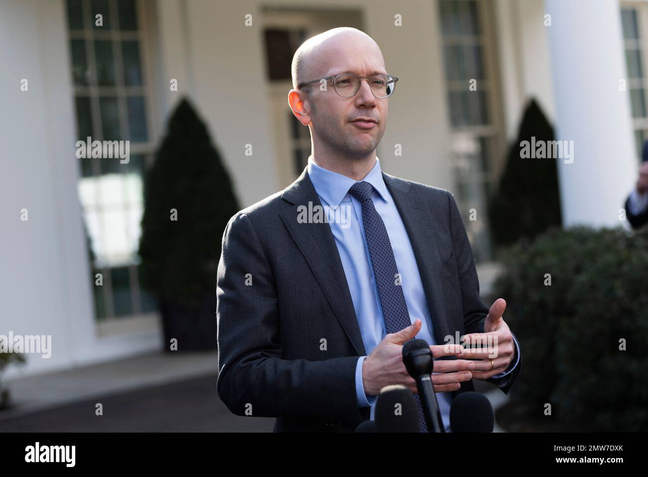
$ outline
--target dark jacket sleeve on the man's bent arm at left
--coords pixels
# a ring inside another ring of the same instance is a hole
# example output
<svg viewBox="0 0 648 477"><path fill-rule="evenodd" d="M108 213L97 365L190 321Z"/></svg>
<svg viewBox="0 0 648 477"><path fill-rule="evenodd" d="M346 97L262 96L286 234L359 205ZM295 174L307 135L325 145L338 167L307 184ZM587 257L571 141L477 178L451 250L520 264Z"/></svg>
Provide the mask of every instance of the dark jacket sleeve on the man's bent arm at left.
<svg viewBox="0 0 648 477"><path fill-rule="evenodd" d="M358 356L283 359L281 313L266 252L248 215L229 220L216 278L218 397L236 415L359 423Z"/></svg>

